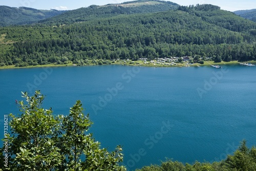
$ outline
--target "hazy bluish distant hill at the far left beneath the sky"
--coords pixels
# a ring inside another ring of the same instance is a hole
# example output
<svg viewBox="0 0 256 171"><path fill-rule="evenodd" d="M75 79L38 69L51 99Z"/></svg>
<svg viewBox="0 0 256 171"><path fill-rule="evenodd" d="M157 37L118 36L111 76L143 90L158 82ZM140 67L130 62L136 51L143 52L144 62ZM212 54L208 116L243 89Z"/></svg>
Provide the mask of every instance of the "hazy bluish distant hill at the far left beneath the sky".
<svg viewBox="0 0 256 171"><path fill-rule="evenodd" d="M53 17L63 12L65 11L0 6L0 26L32 24L38 20Z"/></svg>

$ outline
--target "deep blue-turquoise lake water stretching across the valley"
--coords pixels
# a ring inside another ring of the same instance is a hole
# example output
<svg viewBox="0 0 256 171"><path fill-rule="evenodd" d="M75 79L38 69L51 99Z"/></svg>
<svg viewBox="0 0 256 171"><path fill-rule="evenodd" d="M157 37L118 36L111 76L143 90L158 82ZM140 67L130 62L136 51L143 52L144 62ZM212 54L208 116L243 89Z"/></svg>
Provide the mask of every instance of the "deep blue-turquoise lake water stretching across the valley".
<svg viewBox="0 0 256 171"><path fill-rule="evenodd" d="M256 67L222 67L0 70L0 125L18 113L21 91L40 90L56 115L81 100L95 139L109 151L122 145L129 170L165 158L220 161L243 139L256 145Z"/></svg>

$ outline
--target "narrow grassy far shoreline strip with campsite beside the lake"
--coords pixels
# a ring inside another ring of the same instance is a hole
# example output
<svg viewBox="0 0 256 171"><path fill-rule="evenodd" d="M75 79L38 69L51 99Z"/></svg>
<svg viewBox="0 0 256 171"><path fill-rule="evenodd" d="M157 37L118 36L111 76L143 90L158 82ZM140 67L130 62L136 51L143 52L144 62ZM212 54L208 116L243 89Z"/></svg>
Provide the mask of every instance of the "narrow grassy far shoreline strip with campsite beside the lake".
<svg viewBox="0 0 256 171"><path fill-rule="evenodd" d="M214 61L205 61L204 64L200 64L200 63L193 63L192 65L187 65L186 63L177 63L177 65L163 65L163 64L158 64L158 63L144 63L143 61L134 61L133 63L130 62L114 62L111 64L103 64L103 65L122 65L122 66L142 66L142 67L201 67L201 66L210 66L210 65L238 65L240 62L235 60L235 61L230 61L230 62L218 62L215 63ZM256 63L256 61L246 61L246 62L242 62L242 63ZM48 64L48 65L36 65L36 66L27 66L27 67L15 67L14 65L12 66L4 66L4 67L0 67L0 70L4 70L4 69L25 69L25 68L46 68L46 67L79 67L73 63L68 63L68 64L59 64L59 65L55 65L55 64ZM86 67L86 66L99 66L99 65L95 65L95 64L90 64L90 65L85 65L82 67Z"/></svg>

